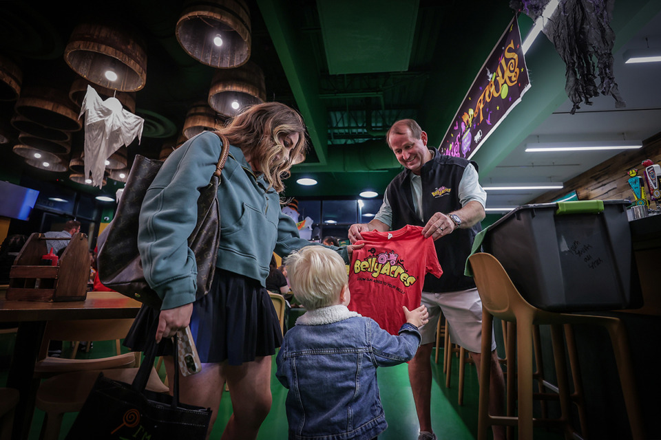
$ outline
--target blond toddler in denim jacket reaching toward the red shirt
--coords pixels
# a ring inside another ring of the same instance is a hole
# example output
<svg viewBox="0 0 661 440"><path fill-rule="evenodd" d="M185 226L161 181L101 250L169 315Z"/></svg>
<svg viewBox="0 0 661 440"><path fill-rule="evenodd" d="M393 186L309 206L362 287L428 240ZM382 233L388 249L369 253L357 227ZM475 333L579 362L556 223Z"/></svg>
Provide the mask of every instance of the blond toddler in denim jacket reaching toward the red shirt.
<svg viewBox="0 0 661 440"><path fill-rule="evenodd" d="M388 427L377 366L408 362L418 349L424 305L403 307L406 322L393 336L346 307L350 300L342 258L309 246L286 260L293 294L307 309L285 334L276 377L289 389L290 439L373 439ZM319 391L323 390L323 393Z"/></svg>

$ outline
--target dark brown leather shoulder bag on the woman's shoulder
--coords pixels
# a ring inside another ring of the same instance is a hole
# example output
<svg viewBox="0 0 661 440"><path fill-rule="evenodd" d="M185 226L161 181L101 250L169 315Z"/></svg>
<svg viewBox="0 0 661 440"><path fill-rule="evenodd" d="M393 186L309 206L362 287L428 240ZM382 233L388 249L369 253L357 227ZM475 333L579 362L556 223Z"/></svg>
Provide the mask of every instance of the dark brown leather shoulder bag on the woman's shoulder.
<svg viewBox="0 0 661 440"><path fill-rule="evenodd" d="M188 237L189 248L198 265L196 300L209 292L220 241L218 183L229 153L229 142L220 133L214 133L220 137L222 152L209 185L200 190L198 221ZM99 244L96 257L98 276L103 285L157 308L162 300L147 284L138 252L138 217L147 189L162 164L160 160L136 155L115 217L106 228L107 238ZM99 241L101 239L99 236Z"/></svg>

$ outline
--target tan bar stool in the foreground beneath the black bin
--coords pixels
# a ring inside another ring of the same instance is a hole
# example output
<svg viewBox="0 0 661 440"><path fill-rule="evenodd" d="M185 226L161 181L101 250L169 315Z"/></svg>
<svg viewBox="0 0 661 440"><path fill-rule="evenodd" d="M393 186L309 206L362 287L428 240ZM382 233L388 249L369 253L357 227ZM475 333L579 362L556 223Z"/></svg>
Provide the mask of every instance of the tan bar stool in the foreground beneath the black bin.
<svg viewBox="0 0 661 440"><path fill-rule="evenodd" d="M631 353L624 325L618 318L605 316L585 316L562 314L543 311L533 307L523 299L512 280L499 261L491 254L479 253L469 258L475 276L475 283L482 299L482 351L490 351L493 317L512 323L516 326L517 345L517 384L518 384L518 417L493 416L489 414L490 358L481 362L481 384L478 415L478 439L487 439L487 429L491 425L518 426L519 439L533 438L532 414L532 352L533 326L539 324L551 325L554 362L558 379L560 397L560 419L554 421L535 420L545 425L559 423L565 432L565 438L570 438L575 431L569 423L570 396L568 392L565 347L563 344L563 325L596 324L606 327L613 344L620 385L625 399L629 425L633 439L644 439L644 425L640 417L640 407L636 395L636 384L633 380ZM513 354L514 327L508 331L508 349ZM508 358L512 358L508 353ZM512 362L513 363L513 362ZM510 370L511 372L511 370ZM508 375L509 376L509 375ZM508 377L509 379L509 377ZM509 391L509 390L508 390Z"/></svg>

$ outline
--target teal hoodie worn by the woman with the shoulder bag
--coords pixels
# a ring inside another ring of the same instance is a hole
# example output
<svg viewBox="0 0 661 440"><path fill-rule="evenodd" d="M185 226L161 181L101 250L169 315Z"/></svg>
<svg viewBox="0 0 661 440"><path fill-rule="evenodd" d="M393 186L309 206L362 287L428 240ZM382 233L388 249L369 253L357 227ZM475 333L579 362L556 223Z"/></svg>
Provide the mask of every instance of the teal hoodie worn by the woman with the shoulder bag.
<svg viewBox="0 0 661 440"><path fill-rule="evenodd" d="M220 157L220 139L204 132L177 148L147 190L140 209L138 249L147 283L161 309L195 300L197 266L187 239L197 220L200 188L209 184ZM282 214L280 195L256 177L240 148L229 157L218 186L220 245L216 267L264 286L275 251L283 258L306 245L294 221ZM348 263L346 248L330 247Z"/></svg>

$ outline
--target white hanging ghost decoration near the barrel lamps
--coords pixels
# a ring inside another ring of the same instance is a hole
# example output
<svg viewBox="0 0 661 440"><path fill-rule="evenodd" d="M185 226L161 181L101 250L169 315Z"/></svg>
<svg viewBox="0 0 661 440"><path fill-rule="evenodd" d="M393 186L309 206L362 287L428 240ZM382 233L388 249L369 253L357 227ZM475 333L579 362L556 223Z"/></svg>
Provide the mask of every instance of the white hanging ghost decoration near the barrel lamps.
<svg viewBox="0 0 661 440"><path fill-rule="evenodd" d="M102 100L96 90L87 85L87 93L81 106L81 118L85 114L85 178L92 185L103 186L105 161L123 145L129 145L143 134L145 120L123 109L117 98Z"/></svg>

